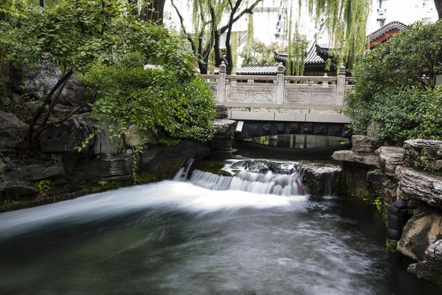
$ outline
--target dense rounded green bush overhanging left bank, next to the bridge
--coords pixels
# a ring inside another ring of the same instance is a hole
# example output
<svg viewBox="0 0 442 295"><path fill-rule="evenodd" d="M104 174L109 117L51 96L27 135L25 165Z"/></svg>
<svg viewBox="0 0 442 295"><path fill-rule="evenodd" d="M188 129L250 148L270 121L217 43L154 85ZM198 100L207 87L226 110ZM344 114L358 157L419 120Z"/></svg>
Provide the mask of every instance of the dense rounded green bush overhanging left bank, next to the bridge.
<svg viewBox="0 0 442 295"><path fill-rule="evenodd" d="M211 138L216 113L209 86L198 77L180 82L171 70L127 64L97 65L85 76L89 90L97 93L93 117L112 126L114 137L135 124L164 144Z"/></svg>

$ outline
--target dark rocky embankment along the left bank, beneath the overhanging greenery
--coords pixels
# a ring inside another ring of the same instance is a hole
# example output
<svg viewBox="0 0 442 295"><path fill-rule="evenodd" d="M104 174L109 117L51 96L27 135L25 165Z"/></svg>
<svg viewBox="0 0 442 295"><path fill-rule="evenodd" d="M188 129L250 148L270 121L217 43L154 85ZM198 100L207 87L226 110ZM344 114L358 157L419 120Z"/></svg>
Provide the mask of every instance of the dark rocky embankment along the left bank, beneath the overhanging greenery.
<svg viewBox="0 0 442 295"><path fill-rule="evenodd" d="M202 158L211 149L232 150L236 122L225 120L225 107L217 106L220 115L215 120L215 137L210 143L183 140L175 146L162 146L152 134L145 134L146 142L141 142L139 131L131 126L122 140L112 140L104 131L77 152L75 148L85 142L95 124L86 106L62 124L53 124L42 131L34 142L38 152L30 155L25 150L29 126L19 117L29 118L38 104L20 99L23 94L20 91L26 88L28 93L45 95L57 77L48 75L43 68L37 68L32 75L15 73L13 76L12 95L6 98L10 99L6 103L19 108L0 111L0 211L132 184L134 172L139 182L171 178L189 157ZM70 80L49 122L57 122L84 106L85 93L80 81ZM133 146L140 144L144 146L142 153L134 155Z"/></svg>

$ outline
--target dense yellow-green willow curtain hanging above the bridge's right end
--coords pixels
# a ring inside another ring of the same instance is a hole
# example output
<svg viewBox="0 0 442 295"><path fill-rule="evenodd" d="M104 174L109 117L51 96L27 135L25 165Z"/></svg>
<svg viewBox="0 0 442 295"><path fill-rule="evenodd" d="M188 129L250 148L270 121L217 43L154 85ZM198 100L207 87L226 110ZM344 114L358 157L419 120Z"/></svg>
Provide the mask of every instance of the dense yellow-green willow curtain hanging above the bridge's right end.
<svg viewBox="0 0 442 295"><path fill-rule="evenodd" d="M308 0L309 12L326 20L336 63L349 70L363 58L371 4L372 0Z"/></svg>

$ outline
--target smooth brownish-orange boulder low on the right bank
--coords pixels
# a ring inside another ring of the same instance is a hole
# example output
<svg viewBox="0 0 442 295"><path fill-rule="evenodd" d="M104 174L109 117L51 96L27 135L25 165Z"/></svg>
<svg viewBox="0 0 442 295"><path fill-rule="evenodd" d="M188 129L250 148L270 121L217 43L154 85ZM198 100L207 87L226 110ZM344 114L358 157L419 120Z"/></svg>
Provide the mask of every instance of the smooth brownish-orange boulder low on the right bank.
<svg viewBox="0 0 442 295"><path fill-rule="evenodd" d="M397 249L402 254L421 261L425 259L425 249L441 238L442 212L427 208L408 220Z"/></svg>

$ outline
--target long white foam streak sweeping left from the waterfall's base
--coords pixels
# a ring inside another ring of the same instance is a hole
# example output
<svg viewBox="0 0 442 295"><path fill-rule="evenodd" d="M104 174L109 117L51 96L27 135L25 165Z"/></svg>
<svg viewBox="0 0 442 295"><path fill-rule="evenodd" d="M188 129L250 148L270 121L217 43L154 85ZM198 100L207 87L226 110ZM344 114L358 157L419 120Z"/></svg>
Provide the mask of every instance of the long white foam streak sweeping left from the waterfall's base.
<svg viewBox="0 0 442 295"><path fill-rule="evenodd" d="M186 211L287 207L307 196L274 196L246 191L213 191L189 182L162 181L95 193L55 204L0 213L0 238L20 234L48 222L88 222L148 207L176 207Z"/></svg>

